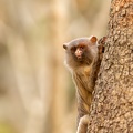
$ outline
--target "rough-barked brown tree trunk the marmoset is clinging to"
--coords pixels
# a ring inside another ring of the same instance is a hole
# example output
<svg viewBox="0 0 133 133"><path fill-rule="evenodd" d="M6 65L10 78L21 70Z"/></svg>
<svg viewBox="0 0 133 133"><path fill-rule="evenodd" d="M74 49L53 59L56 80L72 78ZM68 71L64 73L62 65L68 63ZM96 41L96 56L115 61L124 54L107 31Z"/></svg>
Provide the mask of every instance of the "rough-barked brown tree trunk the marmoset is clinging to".
<svg viewBox="0 0 133 133"><path fill-rule="evenodd" d="M88 133L133 133L133 0L112 0Z"/></svg>

